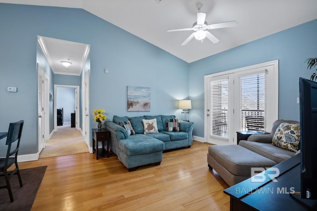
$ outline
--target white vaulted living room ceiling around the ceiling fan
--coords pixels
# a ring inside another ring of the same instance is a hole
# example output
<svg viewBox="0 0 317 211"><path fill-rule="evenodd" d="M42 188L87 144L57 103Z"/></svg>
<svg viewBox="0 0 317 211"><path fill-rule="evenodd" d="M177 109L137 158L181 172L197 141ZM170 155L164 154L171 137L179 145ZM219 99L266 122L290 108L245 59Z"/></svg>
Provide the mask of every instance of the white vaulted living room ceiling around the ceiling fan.
<svg viewBox="0 0 317 211"><path fill-rule="evenodd" d="M0 0L4 3L83 8L189 63L317 19L317 0L157 1ZM197 19L198 2L204 5L201 11L207 13L208 24L236 20L238 25L209 30L220 40L216 44L208 39L203 42L192 39L186 46L181 46L192 31L166 31L191 28Z"/></svg>

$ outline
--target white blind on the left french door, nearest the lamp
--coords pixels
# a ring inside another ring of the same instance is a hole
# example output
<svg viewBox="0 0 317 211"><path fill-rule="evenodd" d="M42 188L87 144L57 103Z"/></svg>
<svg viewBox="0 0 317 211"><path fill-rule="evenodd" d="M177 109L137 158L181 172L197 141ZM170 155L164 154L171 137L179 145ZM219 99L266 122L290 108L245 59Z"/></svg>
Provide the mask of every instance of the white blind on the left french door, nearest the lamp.
<svg viewBox="0 0 317 211"><path fill-rule="evenodd" d="M210 82L211 136L228 138L228 79Z"/></svg>

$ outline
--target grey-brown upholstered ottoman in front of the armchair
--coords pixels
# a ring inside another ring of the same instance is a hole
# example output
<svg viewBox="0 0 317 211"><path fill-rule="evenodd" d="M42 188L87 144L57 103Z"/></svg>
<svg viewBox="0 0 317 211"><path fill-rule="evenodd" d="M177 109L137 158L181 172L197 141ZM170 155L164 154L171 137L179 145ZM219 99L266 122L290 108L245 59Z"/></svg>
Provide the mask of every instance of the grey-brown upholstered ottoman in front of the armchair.
<svg viewBox="0 0 317 211"><path fill-rule="evenodd" d="M207 154L208 166L230 186L251 177L252 167L272 167L277 163L239 145L212 145Z"/></svg>

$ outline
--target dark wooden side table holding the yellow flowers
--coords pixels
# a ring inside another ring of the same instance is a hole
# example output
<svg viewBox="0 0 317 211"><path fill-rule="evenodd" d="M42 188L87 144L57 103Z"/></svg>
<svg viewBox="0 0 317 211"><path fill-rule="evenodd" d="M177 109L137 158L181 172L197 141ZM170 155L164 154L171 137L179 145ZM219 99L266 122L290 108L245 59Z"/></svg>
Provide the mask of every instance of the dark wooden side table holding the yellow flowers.
<svg viewBox="0 0 317 211"><path fill-rule="evenodd" d="M92 129L93 131L93 152L96 153L96 158L98 159L99 155L104 156L107 155L107 158L110 157L110 131L102 128L102 129ZM102 142L102 149L98 149L98 142ZM107 142L107 151L105 152L105 144Z"/></svg>

